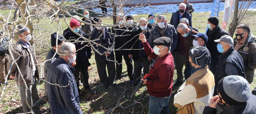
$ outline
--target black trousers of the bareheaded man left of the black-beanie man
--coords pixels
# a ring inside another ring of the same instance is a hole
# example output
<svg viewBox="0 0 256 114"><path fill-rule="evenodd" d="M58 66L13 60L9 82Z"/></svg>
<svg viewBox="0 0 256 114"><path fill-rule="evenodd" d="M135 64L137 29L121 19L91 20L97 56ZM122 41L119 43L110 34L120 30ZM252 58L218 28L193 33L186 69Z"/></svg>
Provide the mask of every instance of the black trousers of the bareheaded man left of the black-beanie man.
<svg viewBox="0 0 256 114"><path fill-rule="evenodd" d="M123 56L124 56L124 60L127 66L127 73L128 76L133 76L133 67L132 67L132 59L130 59L128 57L128 54L118 54L115 53L115 61L117 61L116 63L116 72L117 75L116 77L119 78L122 75L122 60L123 60Z"/></svg>

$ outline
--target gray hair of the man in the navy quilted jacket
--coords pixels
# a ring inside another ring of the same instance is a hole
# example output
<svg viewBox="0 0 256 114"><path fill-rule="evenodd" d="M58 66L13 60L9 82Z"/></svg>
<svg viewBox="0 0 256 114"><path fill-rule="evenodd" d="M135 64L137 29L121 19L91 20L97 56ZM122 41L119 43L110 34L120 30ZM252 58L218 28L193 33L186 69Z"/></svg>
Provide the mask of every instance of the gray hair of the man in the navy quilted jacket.
<svg viewBox="0 0 256 114"><path fill-rule="evenodd" d="M75 47L74 44L69 43L69 42L65 42L60 46L60 52L59 53L65 55L65 56L68 56L67 55L68 52L74 53L74 50L73 50L74 47Z"/></svg>

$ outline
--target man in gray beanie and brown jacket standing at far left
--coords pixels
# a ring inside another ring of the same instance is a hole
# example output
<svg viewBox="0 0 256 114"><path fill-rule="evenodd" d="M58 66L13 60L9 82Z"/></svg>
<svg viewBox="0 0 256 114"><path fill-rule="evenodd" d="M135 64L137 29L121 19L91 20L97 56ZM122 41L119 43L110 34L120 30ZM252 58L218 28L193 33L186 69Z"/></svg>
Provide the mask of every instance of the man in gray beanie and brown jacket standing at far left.
<svg viewBox="0 0 256 114"><path fill-rule="evenodd" d="M18 26L17 35L19 35L19 40L15 44L12 55L18 64L21 74L18 67L13 64L10 69L10 75L15 77L15 83L19 88L23 112L27 113L33 110L34 113L42 113L39 103L35 104L39 100L36 87L36 78L39 79L39 74L36 56L29 43L32 36L29 28L22 25ZM11 66L12 62L13 59L10 60L8 66ZM25 84L28 88L27 90ZM32 107L32 105L35 106Z"/></svg>

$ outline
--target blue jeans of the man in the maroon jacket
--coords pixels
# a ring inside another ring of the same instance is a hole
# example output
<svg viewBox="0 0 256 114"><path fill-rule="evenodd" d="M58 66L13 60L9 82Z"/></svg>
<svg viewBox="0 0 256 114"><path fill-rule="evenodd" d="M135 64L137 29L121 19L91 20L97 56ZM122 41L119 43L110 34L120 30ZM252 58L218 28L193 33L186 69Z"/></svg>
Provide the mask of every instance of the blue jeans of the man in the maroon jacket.
<svg viewBox="0 0 256 114"><path fill-rule="evenodd" d="M171 98L169 97L154 97L149 95L149 110L148 114L171 114L168 102Z"/></svg>

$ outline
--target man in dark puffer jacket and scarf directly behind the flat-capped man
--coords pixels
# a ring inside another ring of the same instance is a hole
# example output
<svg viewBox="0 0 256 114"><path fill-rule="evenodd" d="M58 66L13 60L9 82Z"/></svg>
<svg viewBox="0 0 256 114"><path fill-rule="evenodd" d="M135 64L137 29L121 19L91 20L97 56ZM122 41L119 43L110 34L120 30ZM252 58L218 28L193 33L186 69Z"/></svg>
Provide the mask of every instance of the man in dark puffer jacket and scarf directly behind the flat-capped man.
<svg viewBox="0 0 256 114"><path fill-rule="evenodd" d="M153 41L160 37L168 37L171 39L171 53L173 55L179 39L175 28L171 24L167 23L164 15L157 16L157 24L149 34L148 44L151 48L155 46Z"/></svg>

